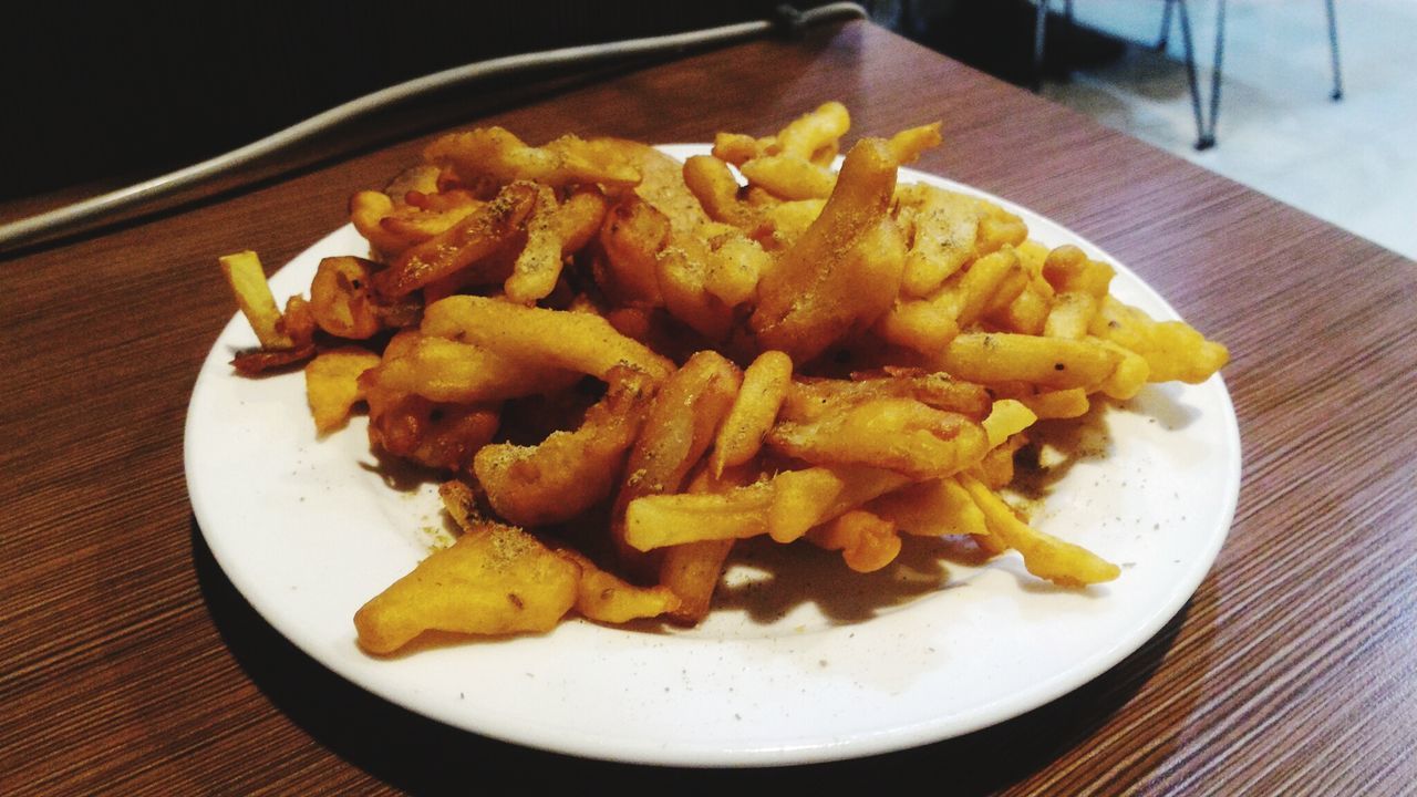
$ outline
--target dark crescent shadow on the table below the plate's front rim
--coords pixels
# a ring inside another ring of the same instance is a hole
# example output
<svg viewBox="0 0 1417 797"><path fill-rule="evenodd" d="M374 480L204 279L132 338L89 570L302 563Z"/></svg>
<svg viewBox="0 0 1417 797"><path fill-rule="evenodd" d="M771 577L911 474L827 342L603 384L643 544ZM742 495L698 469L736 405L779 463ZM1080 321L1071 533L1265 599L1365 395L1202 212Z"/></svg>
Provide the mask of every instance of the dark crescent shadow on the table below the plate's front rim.
<svg viewBox="0 0 1417 797"><path fill-rule="evenodd" d="M1087 740L1161 667L1189 610L1121 664L1077 691L993 728L922 747L826 764L683 770L595 762L507 745L395 706L330 672L281 637L237 591L196 520L193 563L211 618L234 658L275 708L319 745L370 776L414 794L466 794L493 783L538 790L597 783L608 790L730 793L741 787L939 783L982 794L1027 779ZM964 685L962 685L964 686ZM1185 712L1175 716L1182 716Z"/></svg>

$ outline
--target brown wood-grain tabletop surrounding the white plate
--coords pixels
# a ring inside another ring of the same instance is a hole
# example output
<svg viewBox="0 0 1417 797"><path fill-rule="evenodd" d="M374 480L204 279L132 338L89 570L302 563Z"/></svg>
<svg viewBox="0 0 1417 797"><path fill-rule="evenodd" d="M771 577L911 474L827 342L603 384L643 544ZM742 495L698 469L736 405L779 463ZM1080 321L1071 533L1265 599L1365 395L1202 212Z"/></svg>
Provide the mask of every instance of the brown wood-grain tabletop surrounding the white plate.
<svg viewBox="0 0 1417 797"><path fill-rule="evenodd" d="M1417 265L864 23L628 71L482 119L703 140L837 98L853 133L944 119L921 167L1060 220L1229 343L1244 486L1214 570L1112 671L922 749L683 773L453 732L298 652L213 562L183 484L193 379L232 302L418 140L0 262L0 793L735 790L1396 793L1417 781Z"/></svg>

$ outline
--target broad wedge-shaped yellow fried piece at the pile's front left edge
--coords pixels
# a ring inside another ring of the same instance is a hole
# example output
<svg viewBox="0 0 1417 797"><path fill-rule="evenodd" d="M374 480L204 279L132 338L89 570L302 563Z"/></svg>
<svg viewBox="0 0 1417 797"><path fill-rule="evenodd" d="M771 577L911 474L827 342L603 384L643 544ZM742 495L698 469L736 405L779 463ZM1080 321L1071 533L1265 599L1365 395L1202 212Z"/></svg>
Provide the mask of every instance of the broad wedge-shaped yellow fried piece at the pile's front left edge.
<svg viewBox="0 0 1417 797"><path fill-rule="evenodd" d="M575 604L577 563L513 526L482 522L354 614L359 644L391 654L424 631L544 632Z"/></svg>

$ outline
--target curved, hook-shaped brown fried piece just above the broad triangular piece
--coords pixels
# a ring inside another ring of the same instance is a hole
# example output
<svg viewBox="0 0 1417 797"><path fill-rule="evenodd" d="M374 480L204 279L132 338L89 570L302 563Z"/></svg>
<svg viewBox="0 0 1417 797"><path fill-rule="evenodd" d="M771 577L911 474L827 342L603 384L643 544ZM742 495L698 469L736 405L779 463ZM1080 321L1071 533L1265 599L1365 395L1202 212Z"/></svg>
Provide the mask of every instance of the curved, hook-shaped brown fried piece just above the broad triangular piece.
<svg viewBox="0 0 1417 797"><path fill-rule="evenodd" d="M616 369L611 389L575 431L538 445L486 445L473 472L497 515L519 526L561 523L604 501L619 481L652 396L648 379Z"/></svg>

